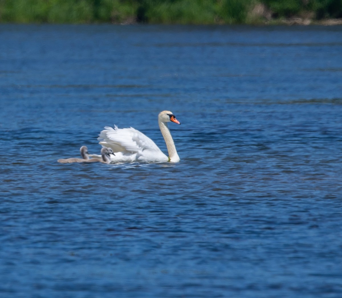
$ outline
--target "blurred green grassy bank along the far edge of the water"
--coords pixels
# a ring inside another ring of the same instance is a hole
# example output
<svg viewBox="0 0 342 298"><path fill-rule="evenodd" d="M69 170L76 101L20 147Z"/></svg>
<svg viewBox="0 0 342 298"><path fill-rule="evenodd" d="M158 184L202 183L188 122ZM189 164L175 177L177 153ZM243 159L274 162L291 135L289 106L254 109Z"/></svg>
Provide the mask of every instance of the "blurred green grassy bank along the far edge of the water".
<svg viewBox="0 0 342 298"><path fill-rule="evenodd" d="M2 23L262 24L342 18L342 0L0 0Z"/></svg>

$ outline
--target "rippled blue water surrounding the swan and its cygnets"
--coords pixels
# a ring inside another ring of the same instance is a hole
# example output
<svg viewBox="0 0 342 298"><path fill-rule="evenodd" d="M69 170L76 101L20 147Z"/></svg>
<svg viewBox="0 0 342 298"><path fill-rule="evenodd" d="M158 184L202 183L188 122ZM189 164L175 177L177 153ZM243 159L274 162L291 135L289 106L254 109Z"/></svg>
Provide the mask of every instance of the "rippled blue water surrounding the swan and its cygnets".
<svg viewBox="0 0 342 298"><path fill-rule="evenodd" d="M342 27L0 25L1 297L342 297ZM132 126L177 164L59 164Z"/></svg>

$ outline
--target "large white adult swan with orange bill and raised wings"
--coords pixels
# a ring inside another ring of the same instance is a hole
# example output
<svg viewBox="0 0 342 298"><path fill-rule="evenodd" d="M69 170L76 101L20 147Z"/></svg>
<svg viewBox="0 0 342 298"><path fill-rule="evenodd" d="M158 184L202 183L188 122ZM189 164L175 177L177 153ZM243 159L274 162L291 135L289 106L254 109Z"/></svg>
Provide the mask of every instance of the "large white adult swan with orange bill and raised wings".
<svg viewBox="0 0 342 298"><path fill-rule="evenodd" d="M98 140L102 146L113 149L115 156L111 162L179 162L176 147L168 128L167 122L181 124L170 111L162 111L158 115L161 134L166 142L169 156L166 156L149 137L140 131L130 128L114 128L106 126Z"/></svg>

